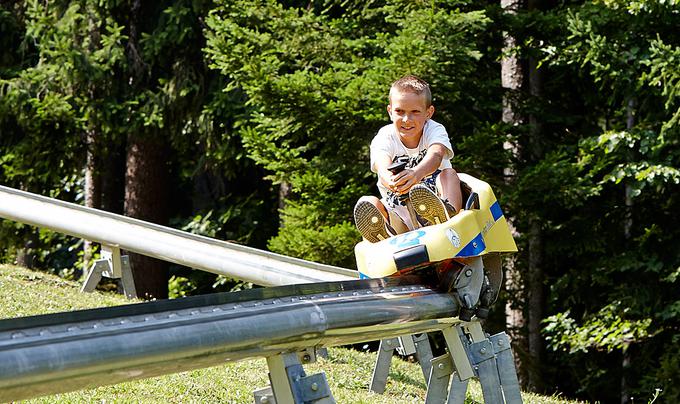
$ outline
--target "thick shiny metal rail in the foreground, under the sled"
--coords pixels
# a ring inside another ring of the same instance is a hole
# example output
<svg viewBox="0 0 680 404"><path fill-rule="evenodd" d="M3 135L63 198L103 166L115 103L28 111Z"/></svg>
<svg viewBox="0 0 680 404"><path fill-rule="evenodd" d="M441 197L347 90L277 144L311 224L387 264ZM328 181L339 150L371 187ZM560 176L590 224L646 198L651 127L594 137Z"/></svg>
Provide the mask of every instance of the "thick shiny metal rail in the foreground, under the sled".
<svg viewBox="0 0 680 404"><path fill-rule="evenodd" d="M391 278L0 321L0 401L450 327L449 294Z"/></svg>

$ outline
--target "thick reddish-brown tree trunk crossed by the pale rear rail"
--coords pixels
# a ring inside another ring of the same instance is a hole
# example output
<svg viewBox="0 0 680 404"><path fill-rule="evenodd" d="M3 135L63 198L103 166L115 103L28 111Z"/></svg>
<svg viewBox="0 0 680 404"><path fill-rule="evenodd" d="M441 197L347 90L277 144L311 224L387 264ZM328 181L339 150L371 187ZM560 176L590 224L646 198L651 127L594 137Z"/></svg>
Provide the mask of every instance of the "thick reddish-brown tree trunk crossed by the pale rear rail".
<svg viewBox="0 0 680 404"><path fill-rule="evenodd" d="M125 215L167 224L168 170L166 145L160 136L129 135L125 172ZM168 297L168 263L130 253L137 295Z"/></svg>

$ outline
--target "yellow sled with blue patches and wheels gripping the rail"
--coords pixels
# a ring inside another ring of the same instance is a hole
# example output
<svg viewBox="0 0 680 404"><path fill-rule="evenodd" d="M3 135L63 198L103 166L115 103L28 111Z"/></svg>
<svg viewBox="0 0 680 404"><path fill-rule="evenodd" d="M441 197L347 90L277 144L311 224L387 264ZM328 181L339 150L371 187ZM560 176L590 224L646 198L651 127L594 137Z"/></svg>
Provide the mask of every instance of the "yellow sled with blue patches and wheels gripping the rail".
<svg viewBox="0 0 680 404"><path fill-rule="evenodd" d="M361 278L400 276L434 269L440 286L460 302L460 318L485 318L501 286L501 253L517 252L489 184L458 174L465 208L438 225L421 227L354 248Z"/></svg>

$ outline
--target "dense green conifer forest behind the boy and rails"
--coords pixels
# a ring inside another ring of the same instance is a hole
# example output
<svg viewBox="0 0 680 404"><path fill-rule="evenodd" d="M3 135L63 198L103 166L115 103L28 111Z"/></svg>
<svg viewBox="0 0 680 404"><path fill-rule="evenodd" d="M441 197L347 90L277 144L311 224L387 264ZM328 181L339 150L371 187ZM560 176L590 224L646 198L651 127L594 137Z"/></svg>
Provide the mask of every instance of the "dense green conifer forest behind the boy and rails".
<svg viewBox="0 0 680 404"><path fill-rule="evenodd" d="M680 402L679 26L678 0L2 0L0 184L355 268L368 146L415 74L512 223L485 328L523 388ZM97 254L0 240L71 279ZM249 287L131 262L149 298Z"/></svg>

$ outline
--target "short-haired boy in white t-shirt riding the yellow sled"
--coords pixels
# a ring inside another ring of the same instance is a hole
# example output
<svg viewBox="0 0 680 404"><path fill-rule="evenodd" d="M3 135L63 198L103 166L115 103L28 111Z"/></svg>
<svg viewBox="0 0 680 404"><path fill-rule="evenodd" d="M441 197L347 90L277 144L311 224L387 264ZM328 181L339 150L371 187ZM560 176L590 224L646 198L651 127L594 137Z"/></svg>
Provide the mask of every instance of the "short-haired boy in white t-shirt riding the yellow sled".
<svg viewBox="0 0 680 404"><path fill-rule="evenodd" d="M443 223L462 205L449 135L430 119L434 114L430 86L411 75L395 81L387 113L392 123L371 142L371 171L378 174L382 198L364 196L354 207L357 228L372 243L420 225ZM406 162L405 169L392 173L388 168L400 161Z"/></svg>

